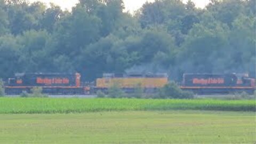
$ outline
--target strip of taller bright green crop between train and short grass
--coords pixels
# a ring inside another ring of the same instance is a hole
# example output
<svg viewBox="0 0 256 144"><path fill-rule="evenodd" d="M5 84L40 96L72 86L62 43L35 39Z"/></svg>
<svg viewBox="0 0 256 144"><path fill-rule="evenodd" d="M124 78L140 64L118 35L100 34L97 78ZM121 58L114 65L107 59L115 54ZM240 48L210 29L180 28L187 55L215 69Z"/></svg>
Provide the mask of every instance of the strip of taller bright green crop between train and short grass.
<svg viewBox="0 0 256 144"><path fill-rule="evenodd" d="M51 114L171 109L256 111L254 100L0 98L0 114Z"/></svg>

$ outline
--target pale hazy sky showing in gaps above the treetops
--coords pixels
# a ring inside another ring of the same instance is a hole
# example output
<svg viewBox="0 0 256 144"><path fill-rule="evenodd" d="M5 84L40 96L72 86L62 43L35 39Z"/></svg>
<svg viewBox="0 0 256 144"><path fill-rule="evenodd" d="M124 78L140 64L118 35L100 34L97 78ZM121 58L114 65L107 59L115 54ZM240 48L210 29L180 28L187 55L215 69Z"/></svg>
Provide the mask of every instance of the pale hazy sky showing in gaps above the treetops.
<svg viewBox="0 0 256 144"><path fill-rule="evenodd" d="M38 0L29 0L30 2L35 2ZM55 3L60 5L62 9L71 9L78 0L39 0L44 3ZM154 0L124 0L125 9L126 11L129 10L131 12L139 9L144 3L146 2L153 2ZM192 0L197 7L204 7L206 4L209 3L209 0ZM187 2L187 0L183 0L183 2Z"/></svg>

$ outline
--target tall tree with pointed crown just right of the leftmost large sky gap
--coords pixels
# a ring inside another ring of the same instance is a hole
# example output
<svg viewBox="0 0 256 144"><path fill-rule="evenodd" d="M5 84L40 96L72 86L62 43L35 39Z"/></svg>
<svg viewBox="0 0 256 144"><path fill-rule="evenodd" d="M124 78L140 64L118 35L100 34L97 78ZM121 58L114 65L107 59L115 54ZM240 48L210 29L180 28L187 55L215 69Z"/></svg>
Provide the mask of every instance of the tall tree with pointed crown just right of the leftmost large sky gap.
<svg viewBox="0 0 256 144"><path fill-rule="evenodd" d="M56 53L76 57L82 47L98 41L101 20L77 5L72 14L68 14L57 25L55 31L58 49Z"/></svg>

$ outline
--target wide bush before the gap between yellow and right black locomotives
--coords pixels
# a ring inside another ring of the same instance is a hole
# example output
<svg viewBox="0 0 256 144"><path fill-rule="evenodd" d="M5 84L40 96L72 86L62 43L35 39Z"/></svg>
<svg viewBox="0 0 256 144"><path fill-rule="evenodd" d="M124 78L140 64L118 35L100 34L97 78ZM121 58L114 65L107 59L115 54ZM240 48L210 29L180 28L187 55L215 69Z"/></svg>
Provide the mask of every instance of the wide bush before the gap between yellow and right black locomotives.
<svg viewBox="0 0 256 144"><path fill-rule="evenodd" d="M194 94L192 92L182 91L175 82L170 82L159 90L158 97L162 99L193 99Z"/></svg>

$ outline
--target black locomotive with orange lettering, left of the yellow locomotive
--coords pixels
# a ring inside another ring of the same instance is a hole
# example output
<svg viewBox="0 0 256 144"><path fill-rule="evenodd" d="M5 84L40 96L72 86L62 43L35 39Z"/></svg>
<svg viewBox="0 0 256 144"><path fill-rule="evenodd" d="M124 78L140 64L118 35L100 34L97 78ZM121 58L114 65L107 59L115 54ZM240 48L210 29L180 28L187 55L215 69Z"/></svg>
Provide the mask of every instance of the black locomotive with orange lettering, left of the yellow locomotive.
<svg viewBox="0 0 256 144"><path fill-rule="evenodd" d="M33 87L42 87L47 94L83 94L81 75L59 73L21 73L9 78L5 86L5 93L20 94L22 91L30 93Z"/></svg>

